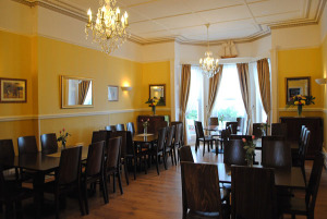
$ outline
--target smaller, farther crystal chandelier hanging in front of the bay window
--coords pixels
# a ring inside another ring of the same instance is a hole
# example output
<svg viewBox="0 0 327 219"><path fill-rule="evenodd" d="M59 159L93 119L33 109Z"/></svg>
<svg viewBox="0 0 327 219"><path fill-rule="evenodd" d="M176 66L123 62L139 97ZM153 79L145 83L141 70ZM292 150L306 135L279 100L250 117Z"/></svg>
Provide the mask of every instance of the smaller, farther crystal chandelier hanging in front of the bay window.
<svg viewBox="0 0 327 219"><path fill-rule="evenodd" d="M218 62L219 59L214 59L213 52L209 50L210 45L209 45L209 24L206 24L207 27L207 42L208 42L208 50L205 52L205 58L199 59L199 68L202 69L202 72L204 75L207 77L213 77L217 71L218 71Z"/></svg>

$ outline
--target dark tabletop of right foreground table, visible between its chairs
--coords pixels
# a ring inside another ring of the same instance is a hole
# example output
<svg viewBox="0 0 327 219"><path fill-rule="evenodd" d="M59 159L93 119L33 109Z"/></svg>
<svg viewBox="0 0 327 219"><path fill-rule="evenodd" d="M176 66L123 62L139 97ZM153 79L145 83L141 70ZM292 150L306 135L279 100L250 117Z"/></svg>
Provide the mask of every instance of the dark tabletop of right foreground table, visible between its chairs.
<svg viewBox="0 0 327 219"><path fill-rule="evenodd" d="M217 163L219 182L231 183L231 167L225 163ZM254 166L254 168L262 168L262 166ZM305 183L300 168L291 168L289 170L275 169L275 184L276 186L289 188L304 188Z"/></svg>

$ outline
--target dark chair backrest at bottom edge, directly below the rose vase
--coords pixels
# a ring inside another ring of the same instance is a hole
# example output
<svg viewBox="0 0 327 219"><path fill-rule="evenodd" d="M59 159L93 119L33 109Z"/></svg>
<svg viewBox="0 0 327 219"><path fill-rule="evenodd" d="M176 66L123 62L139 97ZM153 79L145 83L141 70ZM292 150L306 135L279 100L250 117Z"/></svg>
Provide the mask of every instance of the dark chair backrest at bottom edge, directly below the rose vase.
<svg viewBox="0 0 327 219"><path fill-rule="evenodd" d="M277 219L272 169L231 167L232 218Z"/></svg>

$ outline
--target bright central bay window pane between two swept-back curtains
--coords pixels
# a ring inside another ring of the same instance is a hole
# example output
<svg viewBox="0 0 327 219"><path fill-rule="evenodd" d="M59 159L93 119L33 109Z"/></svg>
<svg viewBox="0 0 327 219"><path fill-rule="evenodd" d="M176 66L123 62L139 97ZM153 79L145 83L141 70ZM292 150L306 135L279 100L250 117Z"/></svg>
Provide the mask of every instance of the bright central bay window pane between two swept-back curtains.
<svg viewBox="0 0 327 219"><path fill-rule="evenodd" d="M245 115L237 64L223 64L222 78L211 112L211 117L220 115L223 115L225 121L237 121L238 117Z"/></svg>

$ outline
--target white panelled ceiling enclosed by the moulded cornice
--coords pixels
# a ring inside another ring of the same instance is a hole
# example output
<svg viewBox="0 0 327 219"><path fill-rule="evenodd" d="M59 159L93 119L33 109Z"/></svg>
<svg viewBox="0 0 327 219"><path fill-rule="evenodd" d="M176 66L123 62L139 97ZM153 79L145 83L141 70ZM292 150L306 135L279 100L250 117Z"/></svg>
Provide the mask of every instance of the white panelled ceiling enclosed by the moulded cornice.
<svg viewBox="0 0 327 219"><path fill-rule="evenodd" d="M98 0L45 0L85 14L95 14ZM205 24L209 40L253 39L270 27L317 22L326 0L118 0L128 11L130 33L140 42L175 39L204 42Z"/></svg>

